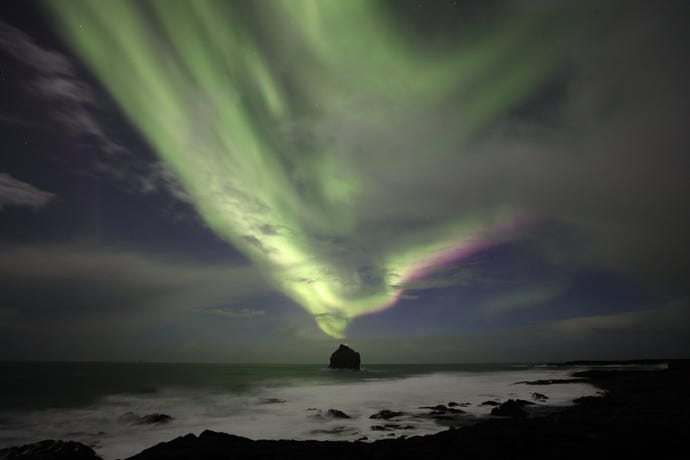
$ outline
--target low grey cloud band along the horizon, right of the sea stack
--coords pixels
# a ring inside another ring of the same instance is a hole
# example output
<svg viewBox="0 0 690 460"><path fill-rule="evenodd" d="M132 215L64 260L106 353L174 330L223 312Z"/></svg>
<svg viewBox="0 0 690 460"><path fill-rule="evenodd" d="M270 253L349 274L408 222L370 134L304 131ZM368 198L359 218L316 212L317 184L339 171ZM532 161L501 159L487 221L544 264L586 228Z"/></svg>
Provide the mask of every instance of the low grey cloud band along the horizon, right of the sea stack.
<svg viewBox="0 0 690 460"><path fill-rule="evenodd" d="M690 304L592 315L481 333L353 337L372 362L562 362L580 359L688 358ZM404 355L399 344L408 345Z"/></svg>

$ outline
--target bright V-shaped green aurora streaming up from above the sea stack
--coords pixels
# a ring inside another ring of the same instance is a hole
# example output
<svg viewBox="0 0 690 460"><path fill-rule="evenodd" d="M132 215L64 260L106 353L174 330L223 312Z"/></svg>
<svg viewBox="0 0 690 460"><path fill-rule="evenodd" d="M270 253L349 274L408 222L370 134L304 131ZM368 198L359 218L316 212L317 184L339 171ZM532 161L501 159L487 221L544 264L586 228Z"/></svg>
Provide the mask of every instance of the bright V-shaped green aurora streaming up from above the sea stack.
<svg viewBox="0 0 690 460"><path fill-rule="evenodd" d="M376 221L365 208L383 185L369 164L396 167L395 149L381 148L398 142L396 124L442 116L415 161L443 168L545 83L553 43L574 23L557 10L506 8L437 46L409 32L395 2L45 7L205 223L336 338L523 212ZM358 142L352 126L366 133Z"/></svg>

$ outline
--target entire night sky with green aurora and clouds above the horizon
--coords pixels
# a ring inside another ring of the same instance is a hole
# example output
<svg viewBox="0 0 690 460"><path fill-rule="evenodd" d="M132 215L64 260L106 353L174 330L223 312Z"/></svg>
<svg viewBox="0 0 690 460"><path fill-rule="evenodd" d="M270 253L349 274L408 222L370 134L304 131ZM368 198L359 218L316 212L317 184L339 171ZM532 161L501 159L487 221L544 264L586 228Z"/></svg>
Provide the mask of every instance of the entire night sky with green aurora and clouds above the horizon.
<svg viewBox="0 0 690 460"><path fill-rule="evenodd" d="M685 1L0 6L0 359L690 357Z"/></svg>

